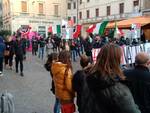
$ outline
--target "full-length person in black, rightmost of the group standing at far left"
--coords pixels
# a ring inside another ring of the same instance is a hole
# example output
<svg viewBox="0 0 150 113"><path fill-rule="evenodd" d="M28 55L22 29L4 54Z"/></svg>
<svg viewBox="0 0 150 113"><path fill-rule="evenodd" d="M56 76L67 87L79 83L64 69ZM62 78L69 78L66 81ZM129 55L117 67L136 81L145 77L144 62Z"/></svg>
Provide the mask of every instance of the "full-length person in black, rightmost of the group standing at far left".
<svg viewBox="0 0 150 113"><path fill-rule="evenodd" d="M16 42L14 44L15 50L15 60L16 60L16 73L18 73L18 65L20 63L20 75L24 76L23 74L23 58L24 58L24 51L26 51L26 46L24 45L23 40L21 37L16 37Z"/></svg>

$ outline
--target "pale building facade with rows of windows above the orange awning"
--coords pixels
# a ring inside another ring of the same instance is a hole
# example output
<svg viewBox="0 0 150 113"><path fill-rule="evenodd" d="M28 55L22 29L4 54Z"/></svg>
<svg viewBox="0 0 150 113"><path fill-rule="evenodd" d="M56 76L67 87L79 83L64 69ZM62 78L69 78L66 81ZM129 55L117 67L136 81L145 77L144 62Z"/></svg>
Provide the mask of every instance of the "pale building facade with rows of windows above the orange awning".
<svg viewBox="0 0 150 113"><path fill-rule="evenodd" d="M68 3L73 0L68 0ZM82 35L86 35L86 29L94 23L103 20L115 21L136 16L142 16L150 8L150 0L76 0L76 13L72 9L68 11L76 15L79 24L83 25ZM69 5L68 5L69 6ZM143 11L143 13L142 13ZM70 16L70 15L69 15Z"/></svg>

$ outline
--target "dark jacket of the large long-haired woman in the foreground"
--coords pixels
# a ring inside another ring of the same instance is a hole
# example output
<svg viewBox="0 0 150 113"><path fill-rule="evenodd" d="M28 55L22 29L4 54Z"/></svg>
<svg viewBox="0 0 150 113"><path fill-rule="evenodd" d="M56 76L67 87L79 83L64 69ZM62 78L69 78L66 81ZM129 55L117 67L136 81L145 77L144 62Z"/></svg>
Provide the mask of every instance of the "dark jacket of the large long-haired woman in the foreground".
<svg viewBox="0 0 150 113"><path fill-rule="evenodd" d="M117 80L108 76L101 77L95 72L87 77L87 85L93 92L93 101L99 109L92 109L91 113L140 113L129 89Z"/></svg>

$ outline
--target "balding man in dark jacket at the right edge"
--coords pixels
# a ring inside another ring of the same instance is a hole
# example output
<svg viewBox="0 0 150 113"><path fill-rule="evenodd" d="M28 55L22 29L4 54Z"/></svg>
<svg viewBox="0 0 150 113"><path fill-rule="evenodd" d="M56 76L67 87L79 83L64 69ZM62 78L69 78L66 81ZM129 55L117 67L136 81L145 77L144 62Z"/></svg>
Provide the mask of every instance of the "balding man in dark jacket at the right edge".
<svg viewBox="0 0 150 113"><path fill-rule="evenodd" d="M139 53L135 63L134 69L124 71L127 77L126 84L141 112L150 113L150 57L146 53Z"/></svg>

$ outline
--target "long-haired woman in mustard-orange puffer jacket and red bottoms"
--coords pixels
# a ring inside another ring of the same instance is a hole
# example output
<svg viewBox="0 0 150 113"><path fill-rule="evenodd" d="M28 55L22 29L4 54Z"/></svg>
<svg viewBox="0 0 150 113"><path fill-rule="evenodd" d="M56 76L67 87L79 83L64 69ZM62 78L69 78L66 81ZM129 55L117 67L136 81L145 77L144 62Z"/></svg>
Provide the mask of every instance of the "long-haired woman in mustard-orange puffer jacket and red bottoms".
<svg viewBox="0 0 150 113"><path fill-rule="evenodd" d="M52 64L51 71L55 85L55 95L61 104L61 112L75 112L72 65L69 51L63 50L59 53L58 62Z"/></svg>

